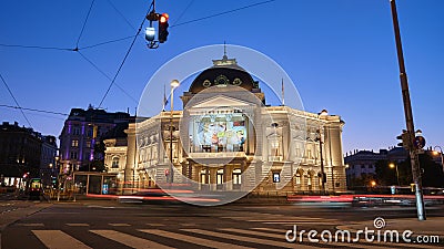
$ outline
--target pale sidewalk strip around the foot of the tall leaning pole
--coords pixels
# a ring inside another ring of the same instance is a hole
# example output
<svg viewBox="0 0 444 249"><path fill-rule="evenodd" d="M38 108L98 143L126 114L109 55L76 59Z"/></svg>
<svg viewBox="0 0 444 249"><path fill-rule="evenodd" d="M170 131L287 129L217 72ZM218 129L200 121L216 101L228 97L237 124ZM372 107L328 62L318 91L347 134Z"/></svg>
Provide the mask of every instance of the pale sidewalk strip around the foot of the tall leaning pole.
<svg viewBox="0 0 444 249"><path fill-rule="evenodd" d="M376 227L381 226L382 220L380 219L379 221L380 225L376 225ZM385 226L380 229L375 228L374 220L337 226L336 229L356 232L357 230L364 230L365 227L367 227L369 230L397 230L400 234L405 230L411 230L416 236L440 236L440 240L444 241L444 217L428 217L423 221L417 220L417 218L387 218L384 219L384 222Z"/></svg>

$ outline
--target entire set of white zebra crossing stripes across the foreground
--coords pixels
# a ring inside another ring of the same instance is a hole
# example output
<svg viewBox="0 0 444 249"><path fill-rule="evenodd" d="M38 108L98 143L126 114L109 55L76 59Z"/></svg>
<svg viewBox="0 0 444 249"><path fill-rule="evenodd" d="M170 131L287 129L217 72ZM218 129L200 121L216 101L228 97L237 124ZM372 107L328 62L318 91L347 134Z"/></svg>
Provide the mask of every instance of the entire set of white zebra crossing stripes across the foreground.
<svg viewBox="0 0 444 249"><path fill-rule="evenodd" d="M71 224L71 225L82 225L82 224ZM114 224L114 225L124 225L124 224ZM117 226L119 227L119 226ZM61 230L38 230L32 229L32 234L48 248L48 249L91 249L91 247L87 246L82 241L77 238L65 234ZM157 236L167 238L169 240L175 241L184 241L188 243L193 243L202 247L209 248L233 248L233 249L248 249L248 246L235 245L239 242L252 242L256 245L268 245L280 248L317 248L325 247L327 245L334 247L342 248L418 248L417 243L405 243L401 239L400 242L377 242L375 241L366 241L365 238L360 238L359 241L342 241L342 237L339 237L340 241L334 241L334 231L333 237L331 237L332 241L322 241L321 235L317 234L312 239L319 239L317 242L310 241L307 238L307 231L304 231L302 243L300 241L300 232L296 235L296 240L294 242L287 242L285 240L285 232L287 229L275 229L268 227L256 227L256 228L248 228L248 229L239 229L239 228L219 228L218 230L206 230L206 229L193 229L193 228L183 228L178 231L169 231L163 229L139 229L138 231L149 234L150 236L145 238L140 238L137 236L132 236L129 234L115 231L115 230L89 230L92 234L99 235L104 239L114 240L119 243L125 245L128 247L145 249L145 248L172 248L160 242L157 242ZM302 231L302 230L301 230ZM208 238L194 237L192 235L186 235L183 232L196 234L201 236L206 236ZM290 237L294 235L291 234ZM221 238L222 241L216 241L214 238ZM325 237L329 239L330 237ZM351 239L355 239L355 235L351 235ZM346 240L346 237L345 237ZM421 245L422 249L433 249L437 248L438 245Z"/></svg>

